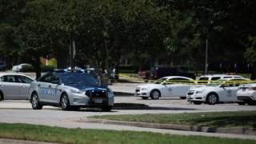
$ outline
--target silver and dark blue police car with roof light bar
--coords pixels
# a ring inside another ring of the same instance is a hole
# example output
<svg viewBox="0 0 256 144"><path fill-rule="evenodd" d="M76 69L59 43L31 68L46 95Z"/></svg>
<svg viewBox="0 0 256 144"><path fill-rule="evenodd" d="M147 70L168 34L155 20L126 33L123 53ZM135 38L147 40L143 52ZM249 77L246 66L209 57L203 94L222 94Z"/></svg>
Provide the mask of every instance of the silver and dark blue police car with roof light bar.
<svg viewBox="0 0 256 144"><path fill-rule="evenodd" d="M110 111L114 106L114 93L99 86L95 78L82 70L54 70L30 84L30 102L34 110L61 106L62 110L100 107Z"/></svg>

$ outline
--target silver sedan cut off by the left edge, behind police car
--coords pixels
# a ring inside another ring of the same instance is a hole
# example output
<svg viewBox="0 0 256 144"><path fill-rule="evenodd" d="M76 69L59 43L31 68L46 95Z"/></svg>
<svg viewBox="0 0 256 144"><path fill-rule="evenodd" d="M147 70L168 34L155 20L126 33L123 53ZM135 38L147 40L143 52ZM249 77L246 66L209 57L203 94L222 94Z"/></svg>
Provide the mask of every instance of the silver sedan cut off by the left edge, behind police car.
<svg viewBox="0 0 256 144"><path fill-rule="evenodd" d="M31 82L34 82L34 79L25 74L0 73L0 100L29 99Z"/></svg>

